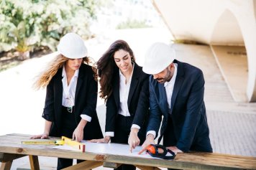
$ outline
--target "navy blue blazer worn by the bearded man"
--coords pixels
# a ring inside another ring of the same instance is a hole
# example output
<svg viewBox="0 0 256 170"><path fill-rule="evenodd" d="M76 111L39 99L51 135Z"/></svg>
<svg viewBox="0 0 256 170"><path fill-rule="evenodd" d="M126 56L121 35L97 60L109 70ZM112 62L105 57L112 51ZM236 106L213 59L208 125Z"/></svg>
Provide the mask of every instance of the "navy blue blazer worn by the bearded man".
<svg viewBox="0 0 256 170"><path fill-rule="evenodd" d="M177 77L168 113L164 84L150 76L150 120L147 131L163 136L165 146L177 146L181 151L212 152L209 126L204 105L204 75L197 67L174 60L178 64ZM158 141L159 143L160 141Z"/></svg>

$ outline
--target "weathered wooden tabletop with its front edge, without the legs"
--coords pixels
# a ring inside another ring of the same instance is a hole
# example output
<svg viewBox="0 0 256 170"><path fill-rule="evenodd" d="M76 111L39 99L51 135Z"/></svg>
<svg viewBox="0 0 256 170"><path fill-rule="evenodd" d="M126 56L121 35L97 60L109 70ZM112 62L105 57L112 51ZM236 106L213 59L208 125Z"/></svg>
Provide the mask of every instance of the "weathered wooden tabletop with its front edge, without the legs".
<svg viewBox="0 0 256 170"><path fill-rule="evenodd" d="M25 141L29 137L24 134L0 136L0 153L51 156L173 169L256 169L256 158L250 156L191 152L178 153L174 160L145 159L112 154L81 153L79 151L54 149L52 146L22 145L21 141Z"/></svg>

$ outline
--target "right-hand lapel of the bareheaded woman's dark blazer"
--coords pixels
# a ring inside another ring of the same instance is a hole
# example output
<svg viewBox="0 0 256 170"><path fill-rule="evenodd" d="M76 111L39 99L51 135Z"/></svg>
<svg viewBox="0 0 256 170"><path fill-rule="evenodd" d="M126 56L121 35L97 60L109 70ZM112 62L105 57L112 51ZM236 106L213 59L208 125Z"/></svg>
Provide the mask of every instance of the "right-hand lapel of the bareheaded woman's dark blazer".
<svg viewBox="0 0 256 170"><path fill-rule="evenodd" d="M129 88L129 95L128 95L128 101L127 101L128 108L129 108L129 104L131 103L131 100L132 100L132 95L133 95L135 89L137 88L138 77L140 77L139 66L136 63L134 63L134 70L132 73L132 80L131 80L131 85Z"/></svg>

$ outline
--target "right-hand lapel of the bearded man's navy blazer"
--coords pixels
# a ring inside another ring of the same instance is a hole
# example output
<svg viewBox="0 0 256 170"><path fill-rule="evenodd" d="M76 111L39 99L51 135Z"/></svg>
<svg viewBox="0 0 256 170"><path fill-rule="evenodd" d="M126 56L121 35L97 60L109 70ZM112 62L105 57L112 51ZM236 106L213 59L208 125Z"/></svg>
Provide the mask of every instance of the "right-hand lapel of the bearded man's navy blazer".
<svg viewBox="0 0 256 170"><path fill-rule="evenodd" d="M180 91L180 88L181 88L181 86L183 84L183 81L184 81L184 78L183 78L184 70L183 70L182 62L178 62L178 60L174 60L174 62L178 64L178 69L177 69L176 80L175 80L174 87L173 87L172 101L170 103L171 111L173 111L173 105L175 103L178 92Z"/></svg>

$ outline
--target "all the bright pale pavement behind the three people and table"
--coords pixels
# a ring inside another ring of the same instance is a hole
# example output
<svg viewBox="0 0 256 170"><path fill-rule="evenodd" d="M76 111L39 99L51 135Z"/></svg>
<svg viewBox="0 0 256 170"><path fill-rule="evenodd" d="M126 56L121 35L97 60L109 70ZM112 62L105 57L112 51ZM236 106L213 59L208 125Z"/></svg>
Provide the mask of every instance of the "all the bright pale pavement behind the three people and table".
<svg viewBox="0 0 256 170"><path fill-rule="evenodd" d="M126 40L134 50L138 64L143 65L145 50L152 42L170 43L172 37L166 28L109 31L86 41L89 55L98 60L116 39ZM175 44L174 47L178 60L195 65L204 72L204 100L214 152L256 157L256 103L234 102L209 46ZM33 90L32 83L52 55L27 60L22 65L0 72L0 135L42 133L45 90ZM104 132L106 110L100 98L97 112ZM41 169L55 169L57 159L43 156L39 159ZM12 164L12 169L28 167L27 157L14 160Z"/></svg>

